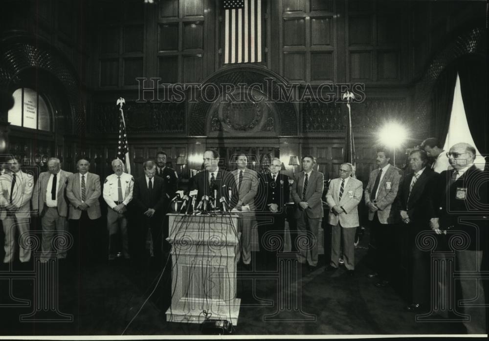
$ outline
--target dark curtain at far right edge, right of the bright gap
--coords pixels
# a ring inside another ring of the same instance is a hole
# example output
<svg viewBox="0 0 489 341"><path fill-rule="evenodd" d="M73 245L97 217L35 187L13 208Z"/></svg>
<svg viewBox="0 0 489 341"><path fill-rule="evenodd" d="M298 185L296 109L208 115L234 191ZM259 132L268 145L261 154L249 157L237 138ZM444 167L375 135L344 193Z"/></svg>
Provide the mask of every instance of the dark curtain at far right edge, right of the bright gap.
<svg viewBox="0 0 489 341"><path fill-rule="evenodd" d="M467 116L468 128L481 154L489 152L488 92L485 57L472 55L457 63L460 88Z"/></svg>

